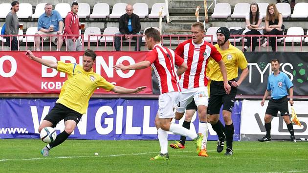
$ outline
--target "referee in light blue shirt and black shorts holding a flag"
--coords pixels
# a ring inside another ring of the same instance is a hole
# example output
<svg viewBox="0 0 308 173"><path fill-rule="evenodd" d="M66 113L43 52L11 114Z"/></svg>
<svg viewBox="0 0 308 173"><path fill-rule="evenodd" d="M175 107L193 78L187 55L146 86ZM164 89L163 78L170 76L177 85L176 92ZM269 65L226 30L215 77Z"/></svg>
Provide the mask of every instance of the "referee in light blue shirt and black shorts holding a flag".
<svg viewBox="0 0 308 173"><path fill-rule="evenodd" d="M280 111L281 116L284 118L286 122L287 130L289 130L291 134L291 140L296 142L294 136L294 130L292 122L289 117L289 110L287 106L287 89L289 89L290 93L290 105L293 106L293 84L290 79L287 77L286 73L279 70L280 63L279 60L273 59L270 61L272 66L273 73L268 76L267 88L264 93L263 100L261 102L261 106L264 106L264 102L266 97L269 95L271 91L271 99L268 102L268 106L266 108L264 122L265 122L265 130L266 135L258 139L260 142L269 142L271 141L270 129L271 129L271 121L272 116L277 116L278 111Z"/></svg>

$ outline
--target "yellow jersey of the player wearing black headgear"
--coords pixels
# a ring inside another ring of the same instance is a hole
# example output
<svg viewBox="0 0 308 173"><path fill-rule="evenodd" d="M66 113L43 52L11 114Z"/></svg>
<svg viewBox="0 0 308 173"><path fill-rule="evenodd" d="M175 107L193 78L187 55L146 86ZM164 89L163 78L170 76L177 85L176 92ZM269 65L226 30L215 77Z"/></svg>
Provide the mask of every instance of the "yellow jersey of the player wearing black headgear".
<svg viewBox="0 0 308 173"><path fill-rule="evenodd" d="M226 66L228 81L238 77L239 67L244 69L248 66L243 52L229 43L229 48L221 50L218 44L214 45L222 56L222 61ZM217 62L213 62L210 69L210 78L213 81L223 81L220 67Z"/></svg>

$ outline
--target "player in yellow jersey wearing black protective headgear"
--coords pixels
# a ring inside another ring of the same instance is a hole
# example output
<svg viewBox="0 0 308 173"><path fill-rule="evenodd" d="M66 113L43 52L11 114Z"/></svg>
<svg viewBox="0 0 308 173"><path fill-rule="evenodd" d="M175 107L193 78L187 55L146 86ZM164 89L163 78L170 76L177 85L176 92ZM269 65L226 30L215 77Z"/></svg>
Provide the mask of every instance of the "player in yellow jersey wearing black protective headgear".
<svg viewBox="0 0 308 173"><path fill-rule="evenodd" d="M226 27L220 27L217 30L217 44L215 47L220 52L222 60L227 70L227 77L229 84L231 85L230 94L226 93L223 87L223 78L220 72L218 63L213 62L211 66L212 80L210 84L210 98L209 98L209 113L210 117L208 121L211 123L213 130L218 135L217 152L223 150L224 141L227 141L227 149L225 155L233 155L232 143L234 127L231 119L231 113L235 102L235 96L237 93L237 87L242 84L242 81L248 75L247 60L242 51L233 46L228 40L230 37L230 31ZM238 77L238 70L241 68L242 74ZM222 115L225 123L225 127L219 120L220 108L222 106Z"/></svg>

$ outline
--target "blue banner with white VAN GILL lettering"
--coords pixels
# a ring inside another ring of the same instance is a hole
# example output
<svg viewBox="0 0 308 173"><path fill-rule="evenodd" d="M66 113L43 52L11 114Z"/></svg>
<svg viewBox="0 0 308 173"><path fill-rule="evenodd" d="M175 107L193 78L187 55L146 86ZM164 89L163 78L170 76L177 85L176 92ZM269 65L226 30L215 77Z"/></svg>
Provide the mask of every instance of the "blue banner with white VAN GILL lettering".
<svg viewBox="0 0 308 173"><path fill-rule="evenodd" d="M0 139L39 138L38 127L46 114L54 107L56 99L0 99ZM154 125L158 109L157 100L141 99L90 99L88 112L83 115L74 132L73 139L93 140L153 140L157 139ZM242 101L236 102L232 119L234 140L240 140ZM193 117L191 130L198 132L198 118ZM183 118L184 119L184 118ZM182 120L176 123L182 123ZM220 119L223 120L220 115ZM223 121L221 121L223 122ZM64 121L55 128L59 134ZM217 140L209 124L209 140ZM169 140L178 140L171 134ZM190 140L190 139L189 139Z"/></svg>

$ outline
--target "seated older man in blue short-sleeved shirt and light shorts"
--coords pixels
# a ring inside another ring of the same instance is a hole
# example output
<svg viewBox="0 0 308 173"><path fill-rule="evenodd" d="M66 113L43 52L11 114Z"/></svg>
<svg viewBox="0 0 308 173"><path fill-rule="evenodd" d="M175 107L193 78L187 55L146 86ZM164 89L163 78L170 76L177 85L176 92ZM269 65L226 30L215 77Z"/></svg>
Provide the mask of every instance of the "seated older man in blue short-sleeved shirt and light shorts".
<svg viewBox="0 0 308 173"><path fill-rule="evenodd" d="M63 40L62 37L46 36L51 34L61 34L63 31L63 19L58 11L52 10L52 4L45 4L45 13L42 14L38 20L38 35L45 35L44 41L50 39L57 45L57 51L60 50ZM59 39L58 39L59 38ZM41 37L35 37L36 50L40 50Z"/></svg>

